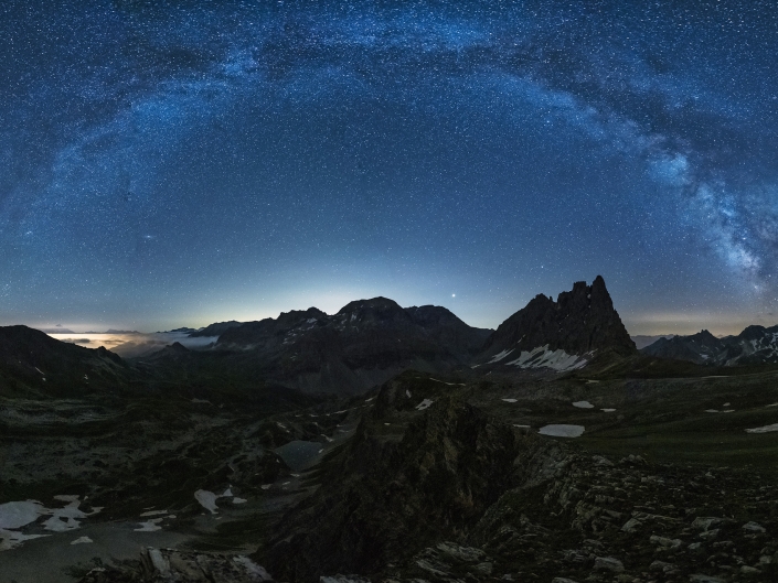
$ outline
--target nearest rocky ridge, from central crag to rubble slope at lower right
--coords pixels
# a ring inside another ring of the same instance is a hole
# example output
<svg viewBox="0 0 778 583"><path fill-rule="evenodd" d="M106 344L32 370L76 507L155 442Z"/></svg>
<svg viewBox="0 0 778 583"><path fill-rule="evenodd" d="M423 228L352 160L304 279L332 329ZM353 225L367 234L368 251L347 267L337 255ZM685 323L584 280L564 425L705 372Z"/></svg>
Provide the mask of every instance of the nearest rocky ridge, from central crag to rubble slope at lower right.
<svg viewBox="0 0 778 583"><path fill-rule="evenodd" d="M405 375L305 474L246 557L149 549L83 582L778 580L778 487L587 453Z"/></svg>

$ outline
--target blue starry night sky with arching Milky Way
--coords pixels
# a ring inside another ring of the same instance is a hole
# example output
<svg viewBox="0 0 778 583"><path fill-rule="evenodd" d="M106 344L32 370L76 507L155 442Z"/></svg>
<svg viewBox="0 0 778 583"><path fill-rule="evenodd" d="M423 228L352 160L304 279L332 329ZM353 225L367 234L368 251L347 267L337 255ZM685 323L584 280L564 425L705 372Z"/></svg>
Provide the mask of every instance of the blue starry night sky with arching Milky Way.
<svg viewBox="0 0 778 583"><path fill-rule="evenodd" d="M0 323L778 323L772 1L0 4Z"/></svg>

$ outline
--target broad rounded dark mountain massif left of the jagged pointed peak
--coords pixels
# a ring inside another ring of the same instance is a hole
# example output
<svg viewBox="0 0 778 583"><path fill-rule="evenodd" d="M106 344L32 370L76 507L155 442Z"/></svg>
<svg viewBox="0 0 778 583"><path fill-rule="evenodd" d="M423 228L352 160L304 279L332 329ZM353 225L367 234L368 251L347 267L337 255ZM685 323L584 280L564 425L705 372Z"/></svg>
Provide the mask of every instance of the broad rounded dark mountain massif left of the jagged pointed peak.
<svg viewBox="0 0 778 583"><path fill-rule="evenodd" d="M374 298L334 315L310 307L231 327L213 350L290 388L359 393L408 368L444 371L468 364L490 332L445 307L403 309Z"/></svg>

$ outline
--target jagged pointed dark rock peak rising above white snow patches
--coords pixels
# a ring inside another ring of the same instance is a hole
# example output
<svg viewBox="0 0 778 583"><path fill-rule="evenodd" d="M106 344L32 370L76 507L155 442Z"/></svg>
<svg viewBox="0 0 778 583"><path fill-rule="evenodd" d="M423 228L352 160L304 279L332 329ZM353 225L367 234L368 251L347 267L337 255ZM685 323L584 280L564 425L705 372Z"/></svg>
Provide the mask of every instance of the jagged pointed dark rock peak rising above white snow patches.
<svg viewBox="0 0 778 583"><path fill-rule="evenodd" d="M592 285L576 282L556 302L543 294L535 296L497 328L487 341L481 358L493 358L501 350L519 356L541 346L568 355L604 348L622 355L637 350L600 276Z"/></svg>

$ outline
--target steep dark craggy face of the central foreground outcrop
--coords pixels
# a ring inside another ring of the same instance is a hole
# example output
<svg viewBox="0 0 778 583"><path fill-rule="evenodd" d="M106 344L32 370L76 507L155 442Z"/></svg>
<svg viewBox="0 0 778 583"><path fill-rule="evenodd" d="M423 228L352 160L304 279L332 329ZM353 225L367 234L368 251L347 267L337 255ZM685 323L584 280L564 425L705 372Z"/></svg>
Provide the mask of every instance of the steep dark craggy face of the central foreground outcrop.
<svg viewBox="0 0 778 583"><path fill-rule="evenodd" d="M408 415L402 439L385 435L386 423ZM462 401L441 397L408 412L383 407L363 420L322 487L280 520L267 555L255 560L285 581L375 573L472 528L510 486L516 447L508 425ZM479 555L473 566L481 562Z"/></svg>

